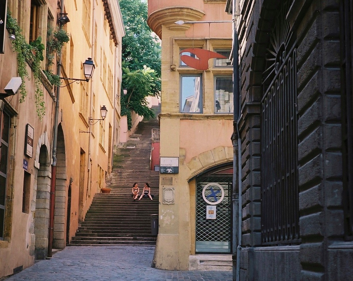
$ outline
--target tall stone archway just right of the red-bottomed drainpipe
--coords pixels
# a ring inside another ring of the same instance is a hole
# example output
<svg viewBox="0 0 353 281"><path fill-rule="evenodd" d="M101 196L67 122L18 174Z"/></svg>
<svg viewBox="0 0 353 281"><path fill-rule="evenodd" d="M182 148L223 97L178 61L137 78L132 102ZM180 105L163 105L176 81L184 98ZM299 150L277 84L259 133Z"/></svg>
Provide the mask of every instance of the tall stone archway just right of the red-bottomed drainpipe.
<svg viewBox="0 0 353 281"><path fill-rule="evenodd" d="M53 247L64 249L66 246L66 154L64 131L61 123L58 126L58 140L56 143L56 184L55 184L55 212L54 212L54 240Z"/></svg>

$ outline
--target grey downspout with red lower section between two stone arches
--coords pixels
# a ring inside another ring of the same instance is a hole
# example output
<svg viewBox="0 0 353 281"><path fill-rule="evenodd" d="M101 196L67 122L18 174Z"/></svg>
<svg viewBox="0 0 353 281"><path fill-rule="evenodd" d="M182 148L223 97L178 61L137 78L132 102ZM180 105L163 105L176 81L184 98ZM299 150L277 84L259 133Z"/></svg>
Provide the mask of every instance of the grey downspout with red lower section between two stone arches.
<svg viewBox="0 0 353 281"><path fill-rule="evenodd" d="M64 13L64 0L60 3L60 13ZM59 29L62 25L59 21ZM56 66L56 75L61 74L61 50L59 52L59 62ZM55 102L55 118L54 118L54 135L53 135L53 164L52 164L52 180L50 185L50 201L49 201L49 237L48 237L48 257L52 257L53 240L54 240L54 211L55 211L55 187L56 187L56 145L58 142L58 120L59 120L59 100L60 87L56 87Z"/></svg>

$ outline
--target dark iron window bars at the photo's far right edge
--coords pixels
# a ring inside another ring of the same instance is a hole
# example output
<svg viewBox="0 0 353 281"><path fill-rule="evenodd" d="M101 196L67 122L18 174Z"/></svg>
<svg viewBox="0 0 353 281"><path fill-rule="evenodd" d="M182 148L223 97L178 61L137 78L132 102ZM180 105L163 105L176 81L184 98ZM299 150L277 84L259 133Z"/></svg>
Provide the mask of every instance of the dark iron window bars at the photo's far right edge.
<svg viewBox="0 0 353 281"><path fill-rule="evenodd" d="M342 156L345 234L353 239L353 6L341 1L341 70L342 70Z"/></svg>

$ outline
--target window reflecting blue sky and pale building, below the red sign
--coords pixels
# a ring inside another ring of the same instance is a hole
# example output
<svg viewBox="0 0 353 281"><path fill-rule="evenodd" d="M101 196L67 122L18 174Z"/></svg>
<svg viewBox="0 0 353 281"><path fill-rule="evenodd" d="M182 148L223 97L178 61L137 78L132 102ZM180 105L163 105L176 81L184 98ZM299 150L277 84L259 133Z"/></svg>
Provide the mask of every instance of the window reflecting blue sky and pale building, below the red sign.
<svg viewBox="0 0 353 281"><path fill-rule="evenodd" d="M180 78L180 112L202 113L202 75L182 75Z"/></svg>

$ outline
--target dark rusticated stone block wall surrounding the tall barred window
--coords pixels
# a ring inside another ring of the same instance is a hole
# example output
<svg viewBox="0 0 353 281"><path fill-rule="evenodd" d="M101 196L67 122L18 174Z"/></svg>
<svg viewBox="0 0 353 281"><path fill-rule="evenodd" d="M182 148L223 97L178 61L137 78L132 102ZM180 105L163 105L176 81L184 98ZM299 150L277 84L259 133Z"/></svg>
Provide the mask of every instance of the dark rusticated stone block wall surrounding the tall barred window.
<svg viewBox="0 0 353 281"><path fill-rule="evenodd" d="M280 3L240 1L240 280L269 280L269 270L274 273L279 266L287 280L349 280L353 242L344 241L343 226L339 0L293 0L286 16L297 40L301 242L284 252L278 246L261 245L262 73L268 34ZM276 264L272 259L278 256L282 259ZM288 257L293 262L283 262ZM274 275L271 280L277 278Z"/></svg>

